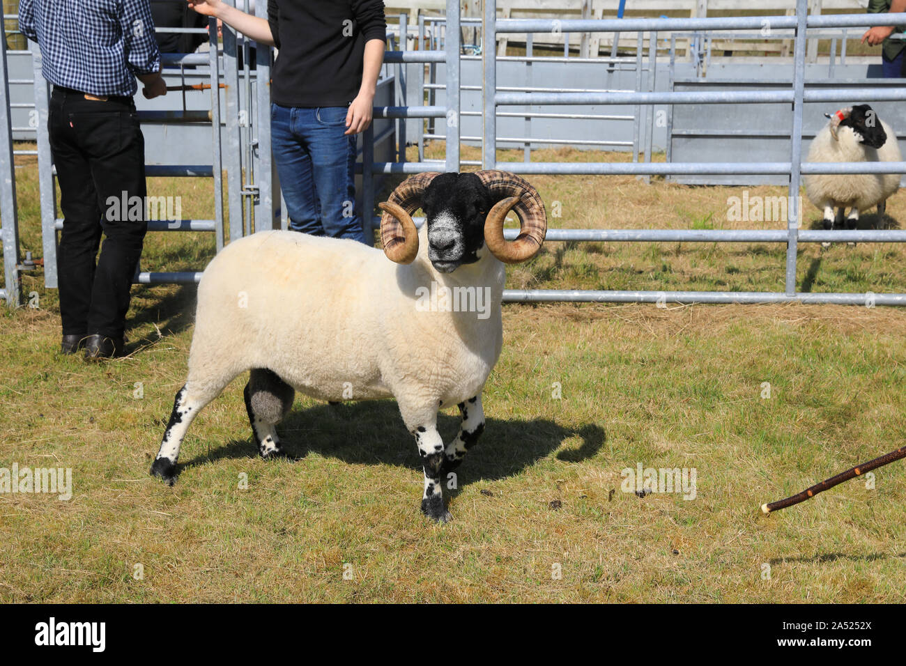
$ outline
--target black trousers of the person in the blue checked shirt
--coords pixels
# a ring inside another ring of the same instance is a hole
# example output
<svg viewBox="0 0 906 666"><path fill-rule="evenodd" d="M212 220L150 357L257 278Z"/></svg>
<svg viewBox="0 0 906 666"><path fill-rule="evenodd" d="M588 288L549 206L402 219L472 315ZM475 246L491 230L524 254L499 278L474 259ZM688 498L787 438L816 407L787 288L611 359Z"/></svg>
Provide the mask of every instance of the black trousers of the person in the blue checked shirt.
<svg viewBox="0 0 906 666"><path fill-rule="evenodd" d="M54 87L48 130L64 219L57 251L63 335L120 337L147 229L145 141L135 103L87 100Z"/></svg>

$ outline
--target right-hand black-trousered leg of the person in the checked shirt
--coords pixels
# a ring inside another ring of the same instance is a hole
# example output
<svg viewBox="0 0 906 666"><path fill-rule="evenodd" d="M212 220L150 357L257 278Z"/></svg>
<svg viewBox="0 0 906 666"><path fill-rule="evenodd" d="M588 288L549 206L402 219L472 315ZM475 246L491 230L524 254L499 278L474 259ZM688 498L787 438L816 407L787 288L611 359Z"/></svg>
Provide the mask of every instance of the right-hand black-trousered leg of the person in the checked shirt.
<svg viewBox="0 0 906 666"><path fill-rule="evenodd" d="M94 273L88 333L121 343L147 229L145 142L139 117L131 101L88 101L76 94L67 97L64 108L89 162L106 236Z"/></svg>

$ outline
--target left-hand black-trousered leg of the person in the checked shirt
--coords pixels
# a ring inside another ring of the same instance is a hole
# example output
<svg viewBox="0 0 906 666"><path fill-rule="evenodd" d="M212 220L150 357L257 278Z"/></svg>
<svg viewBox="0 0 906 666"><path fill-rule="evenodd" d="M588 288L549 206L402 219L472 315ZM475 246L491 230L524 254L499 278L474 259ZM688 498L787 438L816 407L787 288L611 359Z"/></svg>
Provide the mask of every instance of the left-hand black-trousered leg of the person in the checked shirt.
<svg viewBox="0 0 906 666"><path fill-rule="evenodd" d="M48 119L64 219L57 249L60 318L63 335L84 337L88 333L88 311L92 304L94 262L101 243L101 208L98 208L88 159L78 147L63 111L63 99L62 92L53 93Z"/></svg>

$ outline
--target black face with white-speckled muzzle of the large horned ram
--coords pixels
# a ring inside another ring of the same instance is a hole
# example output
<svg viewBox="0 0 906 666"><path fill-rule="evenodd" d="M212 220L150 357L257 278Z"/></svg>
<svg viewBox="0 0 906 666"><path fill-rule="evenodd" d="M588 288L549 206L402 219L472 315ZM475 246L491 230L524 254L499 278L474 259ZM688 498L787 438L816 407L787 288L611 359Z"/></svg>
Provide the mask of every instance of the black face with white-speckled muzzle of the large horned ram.
<svg viewBox="0 0 906 666"><path fill-rule="evenodd" d="M428 258L441 273L474 264L485 244L485 218L494 205L474 173L442 173L425 189L421 208L428 225Z"/></svg>

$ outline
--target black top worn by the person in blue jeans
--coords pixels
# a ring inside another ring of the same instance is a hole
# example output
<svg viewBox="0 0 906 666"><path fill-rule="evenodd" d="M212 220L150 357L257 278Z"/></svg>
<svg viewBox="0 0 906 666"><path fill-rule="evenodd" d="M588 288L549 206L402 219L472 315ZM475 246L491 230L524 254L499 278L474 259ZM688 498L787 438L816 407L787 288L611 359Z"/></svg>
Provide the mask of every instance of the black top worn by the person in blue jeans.
<svg viewBox="0 0 906 666"><path fill-rule="evenodd" d="M359 94L365 42L387 35L381 0L267 0L267 21L280 106L346 106Z"/></svg>

